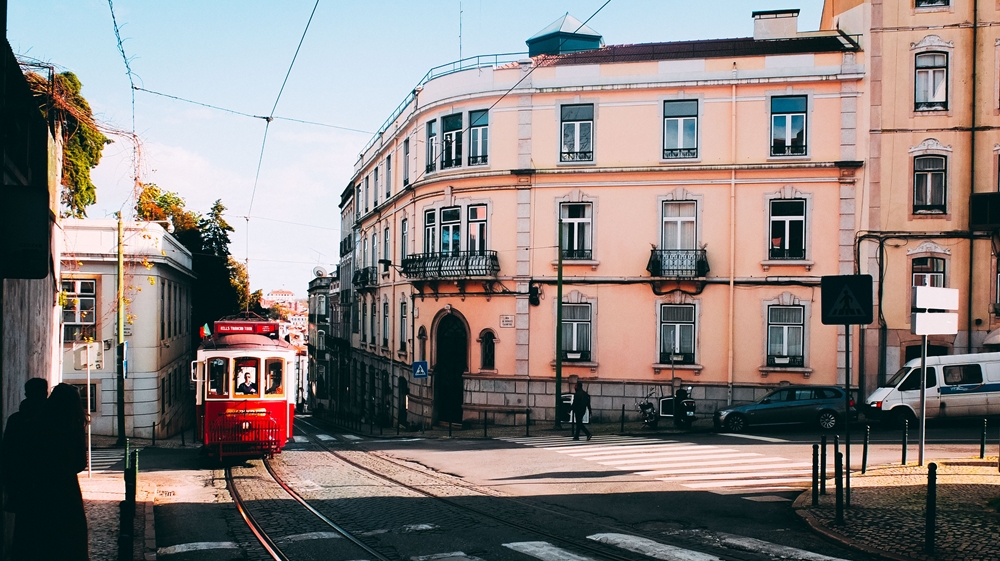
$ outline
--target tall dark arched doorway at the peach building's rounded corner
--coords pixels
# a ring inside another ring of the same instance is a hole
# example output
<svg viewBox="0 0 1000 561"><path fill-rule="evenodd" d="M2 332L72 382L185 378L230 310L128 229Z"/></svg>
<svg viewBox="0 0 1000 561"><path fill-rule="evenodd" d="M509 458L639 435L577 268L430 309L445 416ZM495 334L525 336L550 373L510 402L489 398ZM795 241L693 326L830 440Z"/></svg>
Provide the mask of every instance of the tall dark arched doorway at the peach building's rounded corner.
<svg viewBox="0 0 1000 561"><path fill-rule="evenodd" d="M462 422L462 374L469 339L462 320L452 314L438 324L434 362L434 405L439 421Z"/></svg>

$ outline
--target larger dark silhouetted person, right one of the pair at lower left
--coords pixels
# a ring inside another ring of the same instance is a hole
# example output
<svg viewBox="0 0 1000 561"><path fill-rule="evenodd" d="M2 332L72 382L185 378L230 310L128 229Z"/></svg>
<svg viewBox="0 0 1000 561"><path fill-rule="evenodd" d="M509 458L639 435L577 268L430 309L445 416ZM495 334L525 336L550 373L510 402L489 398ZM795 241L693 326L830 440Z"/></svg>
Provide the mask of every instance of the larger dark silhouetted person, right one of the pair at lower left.
<svg viewBox="0 0 1000 561"><path fill-rule="evenodd" d="M31 472L18 513L25 524L15 528L15 561L90 558L87 515L77 479L87 468L87 422L80 391L59 384L31 423Z"/></svg>

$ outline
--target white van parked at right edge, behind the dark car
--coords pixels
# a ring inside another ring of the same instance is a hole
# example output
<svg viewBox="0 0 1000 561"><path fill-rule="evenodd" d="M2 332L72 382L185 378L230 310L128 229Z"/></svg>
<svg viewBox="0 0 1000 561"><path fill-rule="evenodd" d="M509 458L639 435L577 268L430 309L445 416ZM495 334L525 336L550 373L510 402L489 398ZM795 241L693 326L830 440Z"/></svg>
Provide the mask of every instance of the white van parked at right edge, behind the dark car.
<svg viewBox="0 0 1000 561"><path fill-rule="evenodd" d="M1000 353L927 357L927 418L1000 415ZM865 400L865 415L914 426L920 359L907 362Z"/></svg>

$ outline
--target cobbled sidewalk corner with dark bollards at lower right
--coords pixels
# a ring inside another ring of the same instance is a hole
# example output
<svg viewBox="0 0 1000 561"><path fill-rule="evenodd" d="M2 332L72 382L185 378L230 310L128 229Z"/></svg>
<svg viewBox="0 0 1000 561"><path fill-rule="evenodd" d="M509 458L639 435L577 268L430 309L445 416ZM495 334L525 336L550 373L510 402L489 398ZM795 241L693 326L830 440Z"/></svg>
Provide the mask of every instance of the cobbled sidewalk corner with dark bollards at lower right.
<svg viewBox="0 0 1000 561"><path fill-rule="evenodd" d="M833 483L819 506L812 490L793 508L817 532L850 547L888 559L926 561L1000 560L1000 473L997 458L935 462L937 532L935 552L924 550L927 467L883 466L851 473L851 508L844 524L836 523ZM929 463L928 463L929 465Z"/></svg>

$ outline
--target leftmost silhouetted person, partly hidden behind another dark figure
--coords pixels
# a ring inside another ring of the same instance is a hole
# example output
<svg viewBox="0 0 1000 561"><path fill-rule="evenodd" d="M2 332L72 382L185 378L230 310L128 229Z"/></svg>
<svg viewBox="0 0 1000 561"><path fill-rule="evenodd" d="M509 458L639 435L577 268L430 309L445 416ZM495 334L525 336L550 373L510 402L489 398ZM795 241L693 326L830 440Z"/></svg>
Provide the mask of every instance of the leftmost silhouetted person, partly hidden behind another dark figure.
<svg viewBox="0 0 1000 561"><path fill-rule="evenodd" d="M31 499L31 496L25 493L27 479L31 473L28 465L32 445L31 431L48 395L48 380L31 378L25 382L24 400L18 411L7 419L7 427L3 433L4 510L13 514L12 528L15 536L18 534L18 526L25 522L18 513L24 510L26 500ZM10 545L6 536L5 542Z"/></svg>

